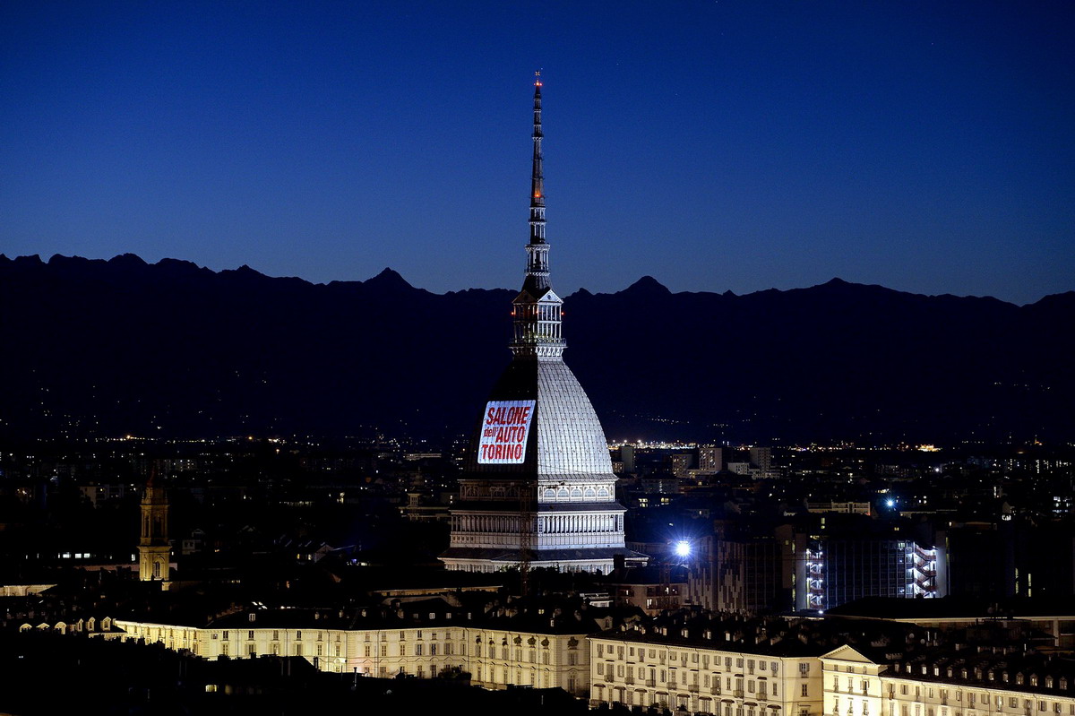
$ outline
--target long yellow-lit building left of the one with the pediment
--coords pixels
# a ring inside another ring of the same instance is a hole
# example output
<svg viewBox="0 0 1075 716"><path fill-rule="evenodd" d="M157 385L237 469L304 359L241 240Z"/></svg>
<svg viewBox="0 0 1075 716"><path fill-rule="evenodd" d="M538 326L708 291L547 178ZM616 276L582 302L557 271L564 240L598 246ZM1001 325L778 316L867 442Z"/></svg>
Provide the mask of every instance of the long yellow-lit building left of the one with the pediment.
<svg viewBox="0 0 1075 716"><path fill-rule="evenodd" d="M435 678L461 671L471 674L472 684L490 689L531 686L589 693L587 632L600 624L548 617L513 625L511 618L469 616L407 604L398 613L363 610L342 617L260 611L204 627L109 619L109 629L97 635L161 644L206 659L301 657L321 671L379 678Z"/></svg>

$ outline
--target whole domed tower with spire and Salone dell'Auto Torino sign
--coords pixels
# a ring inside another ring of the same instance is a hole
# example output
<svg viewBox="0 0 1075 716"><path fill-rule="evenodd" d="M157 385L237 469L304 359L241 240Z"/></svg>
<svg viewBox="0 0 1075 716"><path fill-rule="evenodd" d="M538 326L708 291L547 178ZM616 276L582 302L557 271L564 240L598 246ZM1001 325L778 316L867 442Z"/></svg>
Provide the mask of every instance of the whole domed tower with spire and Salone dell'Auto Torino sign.
<svg viewBox="0 0 1075 716"><path fill-rule="evenodd" d="M452 510L448 569L497 571L529 555L532 568L607 572L624 545L625 509L604 430L564 362L563 312L545 240L541 88L534 82L530 242L512 305L513 359L483 411Z"/></svg>

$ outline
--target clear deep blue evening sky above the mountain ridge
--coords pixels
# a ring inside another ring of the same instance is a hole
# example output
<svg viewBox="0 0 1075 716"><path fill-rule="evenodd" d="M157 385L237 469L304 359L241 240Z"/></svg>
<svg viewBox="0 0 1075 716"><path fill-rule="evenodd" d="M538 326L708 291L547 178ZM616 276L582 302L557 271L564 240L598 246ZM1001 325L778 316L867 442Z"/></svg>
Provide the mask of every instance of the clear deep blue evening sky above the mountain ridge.
<svg viewBox="0 0 1075 716"><path fill-rule="evenodd" d="M1075 288L1075 3L6 2L0 252L516 287Z"/></svg>

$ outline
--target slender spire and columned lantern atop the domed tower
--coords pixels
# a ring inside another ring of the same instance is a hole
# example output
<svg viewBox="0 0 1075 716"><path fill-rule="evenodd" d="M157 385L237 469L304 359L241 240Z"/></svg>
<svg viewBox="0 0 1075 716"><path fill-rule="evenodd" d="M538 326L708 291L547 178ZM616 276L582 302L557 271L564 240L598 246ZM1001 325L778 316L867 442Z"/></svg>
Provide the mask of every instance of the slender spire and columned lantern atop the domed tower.
<svg viewBox="0 0 1075 716"><path fill-rule="evenodd" d="M565 344L560 332L562 302L548 280L548 244L545 242L545 170L542 158L541 72L534 73L534 144L530 170L530 243L527 244L527 277L513 301L516 357L559 358Z"/></svg>

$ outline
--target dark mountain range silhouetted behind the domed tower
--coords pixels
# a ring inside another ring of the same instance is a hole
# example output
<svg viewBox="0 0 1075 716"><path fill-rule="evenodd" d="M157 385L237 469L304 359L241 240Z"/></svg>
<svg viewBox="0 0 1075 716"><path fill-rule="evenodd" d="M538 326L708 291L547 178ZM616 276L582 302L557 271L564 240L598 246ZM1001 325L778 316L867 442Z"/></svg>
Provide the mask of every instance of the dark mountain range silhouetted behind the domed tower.
<svg viewBox="0 0 1075 716"><path fill-rule="evenodd" d="M311 284L0 255L0 433L464 432L511 360L511 289L391 269ZM564 359L610 439L1070 439L1075 292L1018 306L838 278L736 296L644 276L564 302Z"/></svg>

